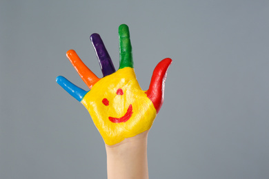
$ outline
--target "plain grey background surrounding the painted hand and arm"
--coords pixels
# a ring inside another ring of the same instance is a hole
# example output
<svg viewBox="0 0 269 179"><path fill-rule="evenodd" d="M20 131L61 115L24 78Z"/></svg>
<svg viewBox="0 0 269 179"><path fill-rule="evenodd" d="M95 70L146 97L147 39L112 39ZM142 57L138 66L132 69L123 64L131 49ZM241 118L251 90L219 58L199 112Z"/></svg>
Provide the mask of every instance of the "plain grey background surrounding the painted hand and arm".
<svg viewBox="0 0 269 179"><path fill-rule="evenodd" d="M87 89L70 49L101 76L94 32L119 67L121 23L143 89L173 59L150 178L269 178L268 17L269 1L2 0L0 178L106 178L101 136L55 78Z"/></svg>

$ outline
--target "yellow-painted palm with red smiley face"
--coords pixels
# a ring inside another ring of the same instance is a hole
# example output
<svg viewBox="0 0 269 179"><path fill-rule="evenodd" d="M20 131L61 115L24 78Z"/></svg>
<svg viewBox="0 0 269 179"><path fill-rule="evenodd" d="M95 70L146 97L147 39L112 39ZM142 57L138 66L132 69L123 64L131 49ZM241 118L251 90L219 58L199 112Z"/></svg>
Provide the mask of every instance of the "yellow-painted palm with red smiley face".
<svg viewBox="0 0 269 179"><path fill-rule="evenodd" d="M81 103L88 109L107 145L150 129L157 115L132 67L101 78Z"/></svg>

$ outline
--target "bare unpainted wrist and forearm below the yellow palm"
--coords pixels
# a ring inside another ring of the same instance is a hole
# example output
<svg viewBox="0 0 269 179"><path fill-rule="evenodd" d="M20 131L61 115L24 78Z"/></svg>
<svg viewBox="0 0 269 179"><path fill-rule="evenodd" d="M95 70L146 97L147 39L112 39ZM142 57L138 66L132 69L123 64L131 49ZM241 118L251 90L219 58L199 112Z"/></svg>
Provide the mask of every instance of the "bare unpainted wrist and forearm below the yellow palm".
<svg viewBox="0 0 269 179"><path fill-rule="evenodd" d="M116 145L106 145L108 179L148 178L148 131L126 138Z"/></svg>

